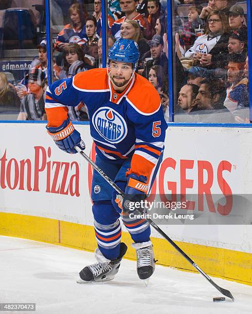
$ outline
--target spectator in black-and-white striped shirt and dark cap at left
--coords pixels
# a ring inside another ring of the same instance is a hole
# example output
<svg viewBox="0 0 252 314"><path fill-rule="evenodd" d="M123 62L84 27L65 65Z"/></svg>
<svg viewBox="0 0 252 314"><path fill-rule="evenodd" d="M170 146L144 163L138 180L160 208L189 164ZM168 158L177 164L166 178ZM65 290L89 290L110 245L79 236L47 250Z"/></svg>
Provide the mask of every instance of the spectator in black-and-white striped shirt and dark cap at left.
<svg viewBox="0 0 252 314"><path fill-rule="evenodd" d="M41 69L32 68L28 74L29 94L21 100L17 120L46 120L44 101L45 75Z"/></svg>

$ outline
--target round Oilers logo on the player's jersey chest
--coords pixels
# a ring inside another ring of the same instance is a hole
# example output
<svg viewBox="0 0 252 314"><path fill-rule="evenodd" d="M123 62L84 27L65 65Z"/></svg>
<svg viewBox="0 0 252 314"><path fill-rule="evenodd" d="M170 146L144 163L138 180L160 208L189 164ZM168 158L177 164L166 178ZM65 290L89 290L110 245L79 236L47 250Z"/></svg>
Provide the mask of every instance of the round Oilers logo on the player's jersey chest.
<svg viewBox="0 0 252 314"><path fill-rule="evenodd" d="M123 117L110 107L101 107L96 110L92 124L102 138L110 143L121 142L128 133Z"/></svg>

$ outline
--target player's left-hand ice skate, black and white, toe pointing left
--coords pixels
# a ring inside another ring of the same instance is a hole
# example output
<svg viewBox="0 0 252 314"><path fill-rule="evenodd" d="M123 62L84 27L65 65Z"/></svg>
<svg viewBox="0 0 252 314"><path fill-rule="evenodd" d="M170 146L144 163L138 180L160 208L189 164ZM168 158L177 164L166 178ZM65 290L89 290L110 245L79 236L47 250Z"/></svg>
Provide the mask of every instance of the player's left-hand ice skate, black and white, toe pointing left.
<svg viewBox="0 0 252 314"><path fill-rule="evenodd" d="M126 253L127 248L127 245L121 243L120 255L116 260L106 259L99 248L97 248L95 250L95 258L98 263L84 267L79 273L80 278L77 279L77 283L113 280L119 270L120 262Z"/></svg>

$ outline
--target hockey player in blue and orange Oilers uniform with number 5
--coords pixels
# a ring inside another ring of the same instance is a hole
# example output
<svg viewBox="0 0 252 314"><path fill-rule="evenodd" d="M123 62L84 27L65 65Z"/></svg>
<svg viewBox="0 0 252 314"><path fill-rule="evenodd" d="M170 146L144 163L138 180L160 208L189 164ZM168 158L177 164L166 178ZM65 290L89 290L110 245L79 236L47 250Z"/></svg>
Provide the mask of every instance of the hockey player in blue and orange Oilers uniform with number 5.
<svg viewBox="0 0 252 314"><path fill-rule="evenodd" d="M148 279L155 268L150 225L145 219L130 218L127 204L129 195L140 201L150 191L163 156L167 124L157 91L135 73L138 58L137 44L121 38L109 50L107 69L81 72L47 89L46 128L56 145L68 153L76 153L76 145L85 148L66 107L82 101L96 144L95 163L127 195L120 201L94 171L91 197L98 262L80 271L79 283L114 279L127 250L121 243L120 216L134 242L139 278Z"/></svg>

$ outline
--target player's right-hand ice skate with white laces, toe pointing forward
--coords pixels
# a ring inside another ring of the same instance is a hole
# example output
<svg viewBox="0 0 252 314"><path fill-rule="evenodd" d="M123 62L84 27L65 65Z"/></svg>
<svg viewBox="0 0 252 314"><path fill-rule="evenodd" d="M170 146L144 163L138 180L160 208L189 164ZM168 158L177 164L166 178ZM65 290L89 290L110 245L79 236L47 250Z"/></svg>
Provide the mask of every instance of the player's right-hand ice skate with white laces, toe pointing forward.
<svg viewBox="0 0 252 314"><path fill-rule="evenodd" d="M154 252L151 241L132 243L132 246L136 249L137 259L137 274L138 277L148 285L149 278L155 269Z"/></svg>

